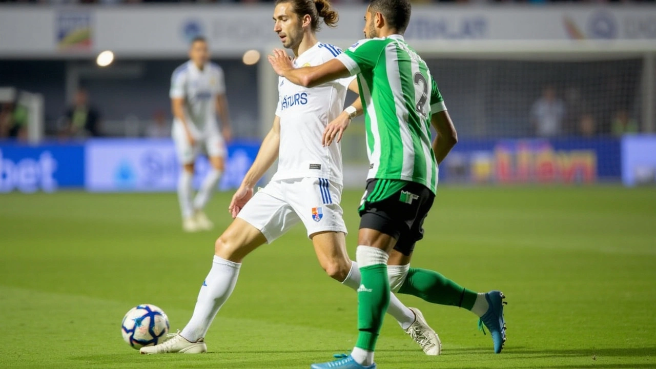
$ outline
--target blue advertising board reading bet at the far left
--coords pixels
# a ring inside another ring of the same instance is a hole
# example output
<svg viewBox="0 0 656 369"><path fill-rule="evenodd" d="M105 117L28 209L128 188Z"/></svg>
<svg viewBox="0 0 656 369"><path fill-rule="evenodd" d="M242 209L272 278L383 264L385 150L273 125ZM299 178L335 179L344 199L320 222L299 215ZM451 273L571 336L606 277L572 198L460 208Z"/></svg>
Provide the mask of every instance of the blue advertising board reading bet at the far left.
<svg viewBox="0 0 656 369"><path fill-rule="evenodd" d="M83 144L0 144L0 192L52 192L82 186Z"/></svg>

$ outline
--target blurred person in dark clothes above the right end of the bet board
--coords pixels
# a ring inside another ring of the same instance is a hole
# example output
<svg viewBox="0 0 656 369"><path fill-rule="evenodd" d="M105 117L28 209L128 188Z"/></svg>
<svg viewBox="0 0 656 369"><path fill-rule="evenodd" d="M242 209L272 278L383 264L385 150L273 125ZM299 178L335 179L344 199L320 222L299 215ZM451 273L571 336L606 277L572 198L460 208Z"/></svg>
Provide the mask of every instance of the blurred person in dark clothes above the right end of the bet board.
<svg viewBox="0 0 656 369"><path fill-rule="evenodd" d="M89 105L87 91L81 89L75 93L73 106L68 108L64 116L64 137L100 136L100 114Z"/></svg>

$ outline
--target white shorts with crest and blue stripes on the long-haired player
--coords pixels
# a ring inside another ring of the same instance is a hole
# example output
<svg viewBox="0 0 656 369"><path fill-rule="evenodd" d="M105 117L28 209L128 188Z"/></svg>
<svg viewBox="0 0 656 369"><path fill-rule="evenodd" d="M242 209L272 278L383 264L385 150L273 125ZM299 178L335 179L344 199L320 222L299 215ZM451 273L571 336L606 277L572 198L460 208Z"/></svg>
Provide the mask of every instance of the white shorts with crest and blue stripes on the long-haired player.
<svg viewBox="0 0 656 369"><path fill-rule="evenodd" d="M316 177L271 181L239 211L237 217L264 234L268 243L298 222L308 237L318 232L344 232L342 186Z"/></svg>

